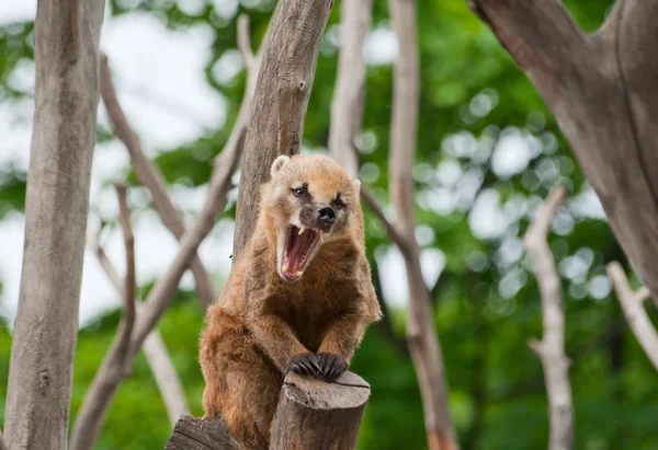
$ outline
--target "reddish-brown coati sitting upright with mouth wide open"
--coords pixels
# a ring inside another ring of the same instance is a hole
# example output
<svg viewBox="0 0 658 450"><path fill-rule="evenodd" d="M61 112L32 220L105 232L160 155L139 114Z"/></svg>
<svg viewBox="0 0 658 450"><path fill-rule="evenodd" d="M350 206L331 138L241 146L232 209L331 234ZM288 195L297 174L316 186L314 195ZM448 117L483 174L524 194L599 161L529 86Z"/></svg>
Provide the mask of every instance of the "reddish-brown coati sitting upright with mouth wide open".
<svg viewBox="0 0 658 450"><path fill-rule="evenodd" d="M270 172L201 336L204 417L220 416L246 449L269 447L287 372L334 381L382 316L360 182L321 154L281 155Z"/></svg>

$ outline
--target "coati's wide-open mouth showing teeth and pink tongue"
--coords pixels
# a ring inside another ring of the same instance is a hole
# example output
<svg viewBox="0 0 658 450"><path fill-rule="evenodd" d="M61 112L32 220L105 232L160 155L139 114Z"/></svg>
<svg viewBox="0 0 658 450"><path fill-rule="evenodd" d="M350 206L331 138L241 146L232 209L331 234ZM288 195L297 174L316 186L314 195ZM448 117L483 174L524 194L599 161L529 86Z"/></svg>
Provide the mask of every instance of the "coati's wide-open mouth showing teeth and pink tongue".
<svg viewBox="0 0 658 450"><path fill-rule="evenodd" d="M287 228L281 258L281 274L286 280L295 281L304 274L320 238L320 231L295 226Z"/></svg>

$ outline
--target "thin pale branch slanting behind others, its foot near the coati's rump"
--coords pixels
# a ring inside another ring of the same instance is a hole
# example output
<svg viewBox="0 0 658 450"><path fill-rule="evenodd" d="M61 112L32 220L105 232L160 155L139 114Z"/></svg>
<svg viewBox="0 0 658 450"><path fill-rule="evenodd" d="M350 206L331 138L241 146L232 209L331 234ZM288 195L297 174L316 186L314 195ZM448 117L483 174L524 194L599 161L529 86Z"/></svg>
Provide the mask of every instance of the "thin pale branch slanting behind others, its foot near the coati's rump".
<svg viewBox="0 0 658 450"><path fill-rule="evenodd" d="M89 246L93 249L101 267L103 267L107 278L110 278L110 281L121 295L121 277L105 254L105 251L100 245L98 239L91 241ZM137 312L139 312L141 310L141 304L138 301L136 301L136 304ZM169 422L173 426L182 414L190 414L190 406L188 405L188 400L185 399L183 385L175 372L175 367L171 361L167 346L164 345L162 336L160 336L160 332L157 327L154 328L144 341L143 350L144 355L146 356L146 360L150 366L154 378L156 379L158 389L160 390L160 395L164 401L164 407L167 409Z"/></svg>

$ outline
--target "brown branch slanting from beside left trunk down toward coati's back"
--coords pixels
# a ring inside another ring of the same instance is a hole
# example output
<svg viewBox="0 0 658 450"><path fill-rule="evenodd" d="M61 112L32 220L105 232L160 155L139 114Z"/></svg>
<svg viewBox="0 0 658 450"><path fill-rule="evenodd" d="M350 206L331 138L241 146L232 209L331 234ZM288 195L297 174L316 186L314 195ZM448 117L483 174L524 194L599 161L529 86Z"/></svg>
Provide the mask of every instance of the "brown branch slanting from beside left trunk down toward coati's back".
<svg viewBox="0 0 658 450"><path fill-rule="evenodd" d="M131 154L133 170L135 171L137 178L150 192L154 206L162 218L162 223L164 223L175 239L180 241L185 232L183 218L167 193L167 184L164 183L162 174L141 149L139 138L133 131L131 124L118 103L114 83L112 82L110 67L107 66L107 57L105 55L103 55L101 61L101 95L110 120L112 122L112 126L114 127L114 132L126 146L126 149ZM194 275L198 299L204 307L208 307L217 299L217 293L215 292L213 281L203 266L201 258L196 254L190 262L190 268Z"/></svg>

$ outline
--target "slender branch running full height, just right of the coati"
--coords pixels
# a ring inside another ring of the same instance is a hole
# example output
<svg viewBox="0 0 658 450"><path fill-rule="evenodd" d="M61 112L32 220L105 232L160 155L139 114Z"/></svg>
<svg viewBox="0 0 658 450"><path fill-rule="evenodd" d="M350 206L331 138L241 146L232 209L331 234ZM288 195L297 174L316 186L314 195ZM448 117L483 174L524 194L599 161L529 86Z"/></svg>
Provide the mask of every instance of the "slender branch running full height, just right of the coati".
<svg viewBox="0 0 658 450"><path fill-rule="evenodd" d="M449 408L443 355L434 330L429 290L422 277L420 249L416 242L411 178L420 101L416 2L389 0L389 11L399 48L394 70L389 195L396 208L395 229L406 243L400 251L405 256L409 282L407 341L420 385L428 447L430 450L453 450L458 449L458 442Z"/></svg>

